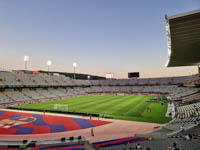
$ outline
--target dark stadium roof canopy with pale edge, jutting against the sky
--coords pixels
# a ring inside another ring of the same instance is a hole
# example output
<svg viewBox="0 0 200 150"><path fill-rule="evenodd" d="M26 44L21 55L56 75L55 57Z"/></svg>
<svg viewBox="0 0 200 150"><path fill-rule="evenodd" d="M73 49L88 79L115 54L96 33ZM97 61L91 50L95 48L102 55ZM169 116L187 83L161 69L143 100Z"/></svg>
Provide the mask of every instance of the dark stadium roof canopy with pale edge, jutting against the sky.
<svg viewBox="0 0 200 150"><path fill-rule="evenodd" d="M200 9L165 16L168 37L167 67L200 65Z"/></svg>

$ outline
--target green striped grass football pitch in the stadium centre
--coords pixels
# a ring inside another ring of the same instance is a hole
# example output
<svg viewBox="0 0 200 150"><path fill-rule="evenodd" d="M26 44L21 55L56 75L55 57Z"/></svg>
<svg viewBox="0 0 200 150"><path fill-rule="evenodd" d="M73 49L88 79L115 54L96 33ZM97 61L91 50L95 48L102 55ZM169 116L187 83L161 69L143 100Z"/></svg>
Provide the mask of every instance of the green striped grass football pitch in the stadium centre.
<svg viewBox="0 0 200 150"><path fill-rule="evenodd" d="M146 102L153 96L142 95L89 95L65 100L54 100L16 106L36 110L54 110L54 104L68 104L68 111L100 114L122 120L134 120L142 122L166 123L171 118L166 118L167 105ZM151 112L146 112L150 106ZM143 117L140 116L143 112Z"/></svg>

